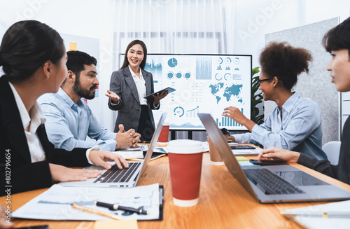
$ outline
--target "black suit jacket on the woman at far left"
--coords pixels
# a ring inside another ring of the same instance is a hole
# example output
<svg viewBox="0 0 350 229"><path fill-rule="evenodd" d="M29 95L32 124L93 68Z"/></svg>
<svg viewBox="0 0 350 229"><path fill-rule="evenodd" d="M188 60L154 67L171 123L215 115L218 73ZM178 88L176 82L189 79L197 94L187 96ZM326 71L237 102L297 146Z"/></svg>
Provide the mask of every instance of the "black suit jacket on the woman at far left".
<svg viewBox="0 0 350 229"><path fill-rule="evenodd" d="M48 163L67 167L83 167L89 165L85 148L75 148L65 151L54 148L48 141L45 126L40 125L37 130L38 138L45 151L46 160L31 162L29 146L20 118L20 111L15 97L8 84L6 76L0 78L0 172L1 195L5 186L11 186L10 193L20 193L26 190L47 188L52 185L52 178Z"/></svg>

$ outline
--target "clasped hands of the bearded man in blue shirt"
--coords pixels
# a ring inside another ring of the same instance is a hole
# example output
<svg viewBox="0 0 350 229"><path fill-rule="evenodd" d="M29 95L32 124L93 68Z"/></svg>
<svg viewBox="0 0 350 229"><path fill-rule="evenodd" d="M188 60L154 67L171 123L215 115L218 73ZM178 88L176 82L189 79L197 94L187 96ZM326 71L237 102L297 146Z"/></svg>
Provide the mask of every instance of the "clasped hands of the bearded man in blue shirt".
<svg viewBox="0 0 350 229"><path fill-rule="evenodd" d="M119 125L119 131L116 136L116 149L117 148L127 148L127 147L137 147L137 143L140 141L141 135L135 132L134 129L130 129L127 132L124 130L124 125Z"/></svg>

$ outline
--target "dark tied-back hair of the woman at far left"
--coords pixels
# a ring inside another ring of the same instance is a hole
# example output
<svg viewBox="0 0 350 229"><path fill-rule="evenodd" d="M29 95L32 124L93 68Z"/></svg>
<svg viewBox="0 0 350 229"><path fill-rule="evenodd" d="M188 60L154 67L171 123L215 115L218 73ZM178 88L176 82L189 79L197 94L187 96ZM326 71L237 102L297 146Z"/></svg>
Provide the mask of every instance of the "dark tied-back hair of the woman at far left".
<svg viewBox="0 0 350 229"><path fill-rule="evenodd" d="M3 35L0 66L9 81L25 81L46 61L57 64L63 55L63 40L55 29L25 20L11 25Z"/></svg>

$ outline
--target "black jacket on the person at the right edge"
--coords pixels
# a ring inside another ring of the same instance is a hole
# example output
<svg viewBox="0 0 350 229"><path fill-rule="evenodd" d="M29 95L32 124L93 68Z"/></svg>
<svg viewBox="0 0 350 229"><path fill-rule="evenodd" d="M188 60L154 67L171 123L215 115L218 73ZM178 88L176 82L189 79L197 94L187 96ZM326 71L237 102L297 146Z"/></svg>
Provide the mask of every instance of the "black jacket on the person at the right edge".
<svg viewBox="0 0 350 229"><path fill-rule="evenodd" d="M297 162L339 181L350 184L350 118L347 118L344 123L338 165L331 165L329 160L311 158L304 153L300 153Z"/></svg>

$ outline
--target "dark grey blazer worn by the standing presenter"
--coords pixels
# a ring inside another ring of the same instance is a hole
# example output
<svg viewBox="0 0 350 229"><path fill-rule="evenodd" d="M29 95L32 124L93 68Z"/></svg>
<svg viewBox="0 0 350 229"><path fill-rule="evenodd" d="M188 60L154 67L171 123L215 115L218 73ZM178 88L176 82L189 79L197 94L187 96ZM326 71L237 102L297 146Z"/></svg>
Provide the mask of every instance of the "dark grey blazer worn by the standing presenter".
<svg viewBox="0 0 350 229"><path fill-rule="evenodd" d="M143 69L141 69L141 71L146 82L146 95L149 95L154 92L153 76L148 71L144 71ZM137 131L139 127L139 118L141 116L141 104L139 93L137 92L136 84L132 78L129 67L125 67L124 69L112 73L109 88L111 92L115 92L120 97L119 103L115 106L111 103L111 99L109 99L108 102L109 109L118 111L114 132L119 131L119 124L123 124L125 130L133 128ZM155 108L153 101L153 97L147 99L148 112L151 117L152 125L155 127L152 109L159 109L160 106Z"/></svg>

